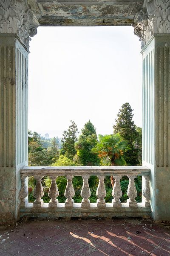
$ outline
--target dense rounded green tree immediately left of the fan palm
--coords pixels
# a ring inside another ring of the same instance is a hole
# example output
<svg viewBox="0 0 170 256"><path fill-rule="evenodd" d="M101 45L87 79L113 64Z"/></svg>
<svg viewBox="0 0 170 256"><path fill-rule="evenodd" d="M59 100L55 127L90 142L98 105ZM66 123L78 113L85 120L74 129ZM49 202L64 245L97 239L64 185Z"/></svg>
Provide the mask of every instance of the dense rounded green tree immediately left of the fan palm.
<svg viewBox="0 0 170 256"><path fill-rule="evenodd" d="M85 123L82 129L82 134L79 136L78 141L75 143L77 154L74 161L83 166L96 166L99 165L99 157L91 151L91 148L97 143L96 129L89 120Z"/></svg>

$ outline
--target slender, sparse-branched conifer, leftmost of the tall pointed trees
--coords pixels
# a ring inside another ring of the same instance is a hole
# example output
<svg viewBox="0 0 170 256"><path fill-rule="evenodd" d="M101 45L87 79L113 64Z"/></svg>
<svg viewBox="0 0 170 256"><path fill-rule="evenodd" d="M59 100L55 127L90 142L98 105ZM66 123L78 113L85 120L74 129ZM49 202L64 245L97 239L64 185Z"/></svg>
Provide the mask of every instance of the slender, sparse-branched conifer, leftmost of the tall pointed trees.
<svg viewBox="0 0 170 256"><path fill-rule="evenodd" d="M75 142L77 141L78 128L74 121L71 120L71 125L67 131L64 131L62 134L62 148L61 154L65 154L66 157L73 159L76 154L76 149L74 147Z"/></svg>

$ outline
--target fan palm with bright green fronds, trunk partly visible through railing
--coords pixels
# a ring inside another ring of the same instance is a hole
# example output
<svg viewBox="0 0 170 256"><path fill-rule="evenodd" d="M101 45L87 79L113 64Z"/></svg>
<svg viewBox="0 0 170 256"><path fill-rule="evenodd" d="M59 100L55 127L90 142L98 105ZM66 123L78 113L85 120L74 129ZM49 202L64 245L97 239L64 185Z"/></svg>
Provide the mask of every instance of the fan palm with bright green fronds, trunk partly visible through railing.
<svg viewBox="0 0 170 256"><path fill-rule="evenodd" d="M91 151L98 154L102 166L125 166L123 153L128 149L127 144L127 140L122 140L118 133L105 136L99 134L99 142ZM111 176L111 183L113 186L113 176Z"/></svg>

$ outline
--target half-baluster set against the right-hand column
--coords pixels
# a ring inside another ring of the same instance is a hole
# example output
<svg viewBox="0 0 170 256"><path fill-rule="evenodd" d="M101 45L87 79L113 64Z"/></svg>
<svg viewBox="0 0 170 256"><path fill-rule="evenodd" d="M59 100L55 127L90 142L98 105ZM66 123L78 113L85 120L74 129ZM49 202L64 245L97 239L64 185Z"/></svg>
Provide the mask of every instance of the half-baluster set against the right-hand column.
<svg viewBox="0 0 170 256"><path fill-rule="evenodd" d="M150 187L149 176L142 176L142 203L145 207L150 207Z"/></svg>

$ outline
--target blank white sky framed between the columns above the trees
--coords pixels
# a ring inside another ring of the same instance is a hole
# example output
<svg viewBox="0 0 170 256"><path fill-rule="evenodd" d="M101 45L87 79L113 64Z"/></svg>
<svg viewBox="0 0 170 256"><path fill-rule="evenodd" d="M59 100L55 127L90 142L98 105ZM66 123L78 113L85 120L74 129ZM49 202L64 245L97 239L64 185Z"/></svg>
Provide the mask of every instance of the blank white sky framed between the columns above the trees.
<svg viewBox="0 0 170 256"><path fill-rule="evenodd" d="M62 137L73 120L112 134L125 102L142 127L142 54L130 26L39 27L30 42L28 128Z"/></svg>

